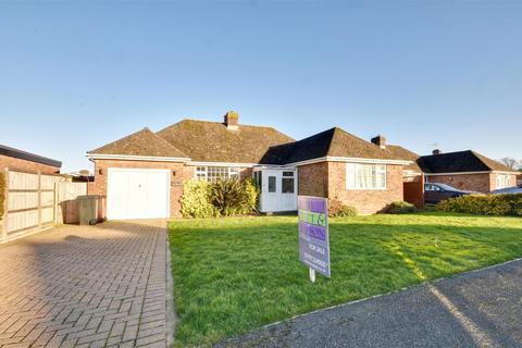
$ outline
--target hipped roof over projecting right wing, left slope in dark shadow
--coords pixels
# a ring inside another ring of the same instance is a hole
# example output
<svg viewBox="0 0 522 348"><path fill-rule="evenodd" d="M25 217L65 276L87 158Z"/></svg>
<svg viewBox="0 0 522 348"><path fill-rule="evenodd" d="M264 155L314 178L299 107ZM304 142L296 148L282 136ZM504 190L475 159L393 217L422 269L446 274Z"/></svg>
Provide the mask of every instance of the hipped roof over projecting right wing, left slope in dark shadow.
<svg viewBox="0 0 522 348"><path fill-rule="evenodd" d="M289 164L323 157L401 160L372 142L335 127L299 141L272 147L261 163Z"/></svg>

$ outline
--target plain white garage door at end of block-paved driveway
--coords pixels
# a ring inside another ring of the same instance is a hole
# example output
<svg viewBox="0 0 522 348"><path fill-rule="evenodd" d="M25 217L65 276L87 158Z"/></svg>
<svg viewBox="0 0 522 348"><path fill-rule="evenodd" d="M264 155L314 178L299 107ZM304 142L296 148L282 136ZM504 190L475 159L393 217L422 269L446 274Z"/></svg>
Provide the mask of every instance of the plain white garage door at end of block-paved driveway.
<svg viewBox="0 0 522 348"><path fill-rule="evenodd" d="M108 176L108 219L169 217L169 170L110 167Z"/></svg>

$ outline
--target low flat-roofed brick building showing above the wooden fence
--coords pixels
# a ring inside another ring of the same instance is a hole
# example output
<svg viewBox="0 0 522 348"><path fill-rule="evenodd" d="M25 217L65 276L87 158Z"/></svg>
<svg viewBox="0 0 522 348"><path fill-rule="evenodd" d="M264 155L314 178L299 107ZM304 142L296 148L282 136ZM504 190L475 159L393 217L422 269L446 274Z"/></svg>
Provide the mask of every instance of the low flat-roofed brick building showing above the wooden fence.
<svg viewBox="0 0 522 348"><path fill-rule="evenodd" d="M40 172L42 174L60 173L62 162L46 157L0 145L0 170L4 169Z"/></svg>

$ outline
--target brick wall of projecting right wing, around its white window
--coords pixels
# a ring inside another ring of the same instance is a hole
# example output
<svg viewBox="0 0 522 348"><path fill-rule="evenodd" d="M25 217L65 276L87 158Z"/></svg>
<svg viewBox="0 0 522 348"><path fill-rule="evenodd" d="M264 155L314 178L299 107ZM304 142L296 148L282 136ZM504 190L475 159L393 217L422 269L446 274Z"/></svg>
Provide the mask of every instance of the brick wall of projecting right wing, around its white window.
<svg viewBox="0 0 522 348"><path fill-rule="evenodd" d="M402 166L387 165L386 189L346 189L346 163L321 162L299 166L299 195L338 199L356 207L361 214L382 211L394 201L403 199Z"/></svg>

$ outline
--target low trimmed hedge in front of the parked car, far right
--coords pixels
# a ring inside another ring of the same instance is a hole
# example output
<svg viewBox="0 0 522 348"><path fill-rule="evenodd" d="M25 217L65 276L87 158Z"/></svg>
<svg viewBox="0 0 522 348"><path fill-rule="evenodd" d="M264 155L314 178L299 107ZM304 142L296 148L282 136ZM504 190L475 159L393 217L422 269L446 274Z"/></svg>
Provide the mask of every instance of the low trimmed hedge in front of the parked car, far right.
<svg viewBox="0 0 522 348"><path fill-rule="evenodd" d="M522 216L522 194L456 197L439 202L436 209L455 213Z"/></svg>

